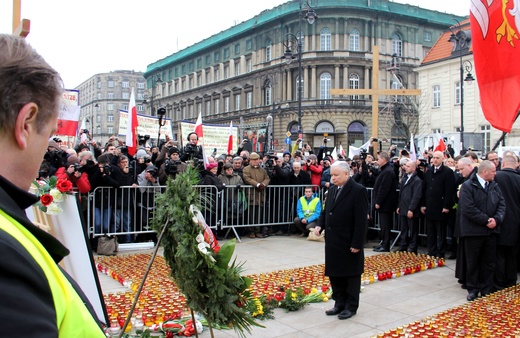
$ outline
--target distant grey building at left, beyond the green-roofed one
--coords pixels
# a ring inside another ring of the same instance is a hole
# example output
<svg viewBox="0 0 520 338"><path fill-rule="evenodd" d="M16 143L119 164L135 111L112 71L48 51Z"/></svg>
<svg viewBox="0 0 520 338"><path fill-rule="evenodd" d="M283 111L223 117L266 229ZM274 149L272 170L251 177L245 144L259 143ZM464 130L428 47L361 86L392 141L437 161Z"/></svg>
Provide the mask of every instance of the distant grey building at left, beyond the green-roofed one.
<svg viewBox="0 0 520 338"><path fill-rule="evenodd" d="M137 113L145 114L146 81L142 72L116 70L91 76L74 89L79 90L80 121L90 136L104 145L110 136L118 135L119 110L128 110L134 88Z"/></svg>

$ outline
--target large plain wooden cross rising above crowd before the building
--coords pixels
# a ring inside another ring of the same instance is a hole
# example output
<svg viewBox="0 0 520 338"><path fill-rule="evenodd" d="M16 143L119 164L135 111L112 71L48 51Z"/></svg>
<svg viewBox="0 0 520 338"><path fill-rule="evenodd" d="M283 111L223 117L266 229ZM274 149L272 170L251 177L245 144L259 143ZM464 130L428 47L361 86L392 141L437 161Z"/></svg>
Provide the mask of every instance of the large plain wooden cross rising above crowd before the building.
<svg viewBox="0 0 520 338"><path fill-rule="evenodd" d="M379 95L421 95L420 89L379 89L379 47L372 49L371 89L331 89L331 95L371 95L372 96L372 137L377 138L379 129ZM374 143L377 150L377 142ZM374 151L376 153L376 151Z"/></svg>

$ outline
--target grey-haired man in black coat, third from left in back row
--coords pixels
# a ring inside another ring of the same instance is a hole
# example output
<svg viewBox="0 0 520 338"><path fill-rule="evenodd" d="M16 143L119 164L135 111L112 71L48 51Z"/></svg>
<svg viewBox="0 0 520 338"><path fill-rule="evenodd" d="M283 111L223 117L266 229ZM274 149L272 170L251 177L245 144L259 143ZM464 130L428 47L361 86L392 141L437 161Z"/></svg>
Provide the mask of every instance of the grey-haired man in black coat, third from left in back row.
<svg viewBox="0 0 520 338"><path fill-rule="evenodd" d="M424 173L421 212L426 216L428 255L444 258L448 213L453 207L455 175L444 166L444 154L433 153L431 168Z"/></svg>

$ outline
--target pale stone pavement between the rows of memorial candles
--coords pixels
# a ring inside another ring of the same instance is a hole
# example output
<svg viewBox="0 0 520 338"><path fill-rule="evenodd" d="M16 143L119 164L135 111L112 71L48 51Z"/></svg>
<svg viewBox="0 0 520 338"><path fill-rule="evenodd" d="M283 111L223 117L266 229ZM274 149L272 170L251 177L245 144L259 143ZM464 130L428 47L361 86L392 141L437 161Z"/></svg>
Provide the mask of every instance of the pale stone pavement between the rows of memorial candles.
<svg viewBox="0 0 520 338"><path fill-rule="evenodd" d="M365 245L366 256L377 254L372 251L375 244ZM257 274L322 264L323 247L324 243L307 241L294 235L243 238L242 243L236 245L235 255L237 262L245 262L244 274ZM325 315L325 310L333 306L333 301L309 304L300 311L289 313L276 309L275 319L260 322L265 328L254 328L251 336L369 338L464 304L467 291L457 283L454 270L455 261L447 260L444 267L366 285L361 292L357 314L347 320ZM100 280L104 293L125 290L106 275L100 274ZM238 337L232 330L215 330L214 333L218 338ZM199 336L207 338L210 334L205 330Z"/></svg>

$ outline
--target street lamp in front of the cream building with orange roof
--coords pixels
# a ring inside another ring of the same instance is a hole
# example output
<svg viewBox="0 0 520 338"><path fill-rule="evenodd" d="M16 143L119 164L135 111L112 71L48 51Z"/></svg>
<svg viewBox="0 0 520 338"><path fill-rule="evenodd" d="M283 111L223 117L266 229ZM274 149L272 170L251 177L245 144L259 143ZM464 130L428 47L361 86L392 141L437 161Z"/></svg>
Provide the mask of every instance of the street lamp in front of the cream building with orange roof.
<svg viewBox="0 0 520 338"><path fill-rule="evenodd" d="M455 32L452 27L449 27L451 31L450 38L448 42L453 44L453 51L457 48L459 49L459 76L460 76L460 149L464 150L464 82L472 82L475 80L471 71L473 70L473 65L470 61L462 61L462 49L469 48L469 42L471 40L471 35L466 34L464 30L461 28L461 24L458 20L452 19L457 22L457 31ZM464 78L464 73L467 73L466 78Z"/></svg>

